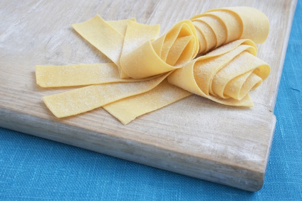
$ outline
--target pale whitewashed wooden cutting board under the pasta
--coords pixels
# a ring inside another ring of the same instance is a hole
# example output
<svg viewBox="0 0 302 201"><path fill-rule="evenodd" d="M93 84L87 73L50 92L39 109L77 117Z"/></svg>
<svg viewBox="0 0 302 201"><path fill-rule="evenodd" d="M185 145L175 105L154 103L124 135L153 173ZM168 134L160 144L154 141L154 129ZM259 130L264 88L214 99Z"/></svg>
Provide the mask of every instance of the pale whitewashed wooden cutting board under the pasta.
<svg viewBox="0 0 302 201"><path fill-rule="evenodd" d="M142 164L256 191L263 184L276 118L273 114L296 0L292 1L1 1L0 127L105 153ZM192 95L124 126L103 109L55 118L42 96L69 90L41 88L35 65L109 60L71 24L99 14L105 20L135 17L161 24L208 9L250 6L270 21L259 57L272 72L251 92L255 107L242 109Z"/></svg>

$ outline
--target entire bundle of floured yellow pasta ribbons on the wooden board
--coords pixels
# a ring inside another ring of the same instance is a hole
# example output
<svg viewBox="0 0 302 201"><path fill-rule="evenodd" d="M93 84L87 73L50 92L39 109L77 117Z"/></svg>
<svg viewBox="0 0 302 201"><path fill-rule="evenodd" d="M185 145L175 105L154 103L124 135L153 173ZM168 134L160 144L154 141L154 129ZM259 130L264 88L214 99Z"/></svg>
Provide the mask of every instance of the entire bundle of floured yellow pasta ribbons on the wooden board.
<svg viewBox="0 0 302 201"><path fill-rule="evenodd" d="M83 86L44 96L56 117L103 107L128 124L143 114L192 93L230 106L253 106L249 91L267 78L270 66L256 57L269 32L257 9L209 10L176 23L159 36L160 25L100 16L72 27L112 63L36 66L42 87Z"/></svg>

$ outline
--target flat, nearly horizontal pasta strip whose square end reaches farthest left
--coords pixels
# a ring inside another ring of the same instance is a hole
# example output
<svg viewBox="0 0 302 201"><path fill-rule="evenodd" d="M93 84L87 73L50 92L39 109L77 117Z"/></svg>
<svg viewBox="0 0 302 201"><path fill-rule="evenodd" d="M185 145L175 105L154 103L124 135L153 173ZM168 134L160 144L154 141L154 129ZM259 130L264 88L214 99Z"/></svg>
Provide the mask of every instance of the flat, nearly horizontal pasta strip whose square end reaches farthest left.
<svg viewBox="0 0 302 201"><path fill-rule="evenodd" d="M41 87L82 86L112 82L144 81L143 79L123 79L114 63L76 64L62 66L36 65L36 81Z"/></svg>

